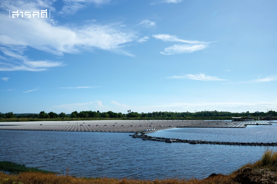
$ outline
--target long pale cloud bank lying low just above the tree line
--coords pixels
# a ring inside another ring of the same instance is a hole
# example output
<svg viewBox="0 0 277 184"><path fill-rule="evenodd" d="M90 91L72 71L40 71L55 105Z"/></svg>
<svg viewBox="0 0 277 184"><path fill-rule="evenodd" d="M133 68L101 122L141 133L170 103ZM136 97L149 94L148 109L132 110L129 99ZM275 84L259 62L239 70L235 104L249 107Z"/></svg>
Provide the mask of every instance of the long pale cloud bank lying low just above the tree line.
<svg viewBox="0 0 277 184"><path fill-rule="evenodd" d="M83 111L83 110L92 110L100 112L121 112L127 113L127 110L131 109L134 112L153 112L153 111L171 111L171 112L194 112L194 109L197 111L204 111L205 109L209 111L217 110L217 111L229 111L229 112L255 112L259 110L260 112L265 112L267 107L271 107L272 109L277 108L277 101L273 102L172 102L172 103L164 103L159 105L149 105L149 106L129 106L125 104L120 104L115 101L111 101L111 104L115 105L115 107L109 107L103 105L101 101L94 102L86 102L86 103L74 103L74 104L64 104L64 105L56 105L51 107L50 111L57 112L66 112L71 113L75 110Z"/></svg>

